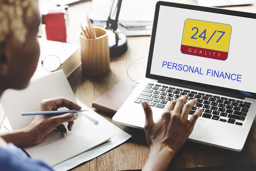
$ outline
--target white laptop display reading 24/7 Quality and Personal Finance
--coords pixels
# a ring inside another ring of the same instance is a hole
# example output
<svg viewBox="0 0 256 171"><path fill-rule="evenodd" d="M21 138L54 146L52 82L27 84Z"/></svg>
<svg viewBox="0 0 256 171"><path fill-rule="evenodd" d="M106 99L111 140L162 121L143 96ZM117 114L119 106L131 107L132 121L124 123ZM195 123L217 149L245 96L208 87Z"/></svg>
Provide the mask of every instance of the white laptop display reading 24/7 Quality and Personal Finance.
<svg viewBox="0 0 256 171"><path fill-rule="evenodd" d="M150 74L256 93L256 19L160 6Z"/></svg>

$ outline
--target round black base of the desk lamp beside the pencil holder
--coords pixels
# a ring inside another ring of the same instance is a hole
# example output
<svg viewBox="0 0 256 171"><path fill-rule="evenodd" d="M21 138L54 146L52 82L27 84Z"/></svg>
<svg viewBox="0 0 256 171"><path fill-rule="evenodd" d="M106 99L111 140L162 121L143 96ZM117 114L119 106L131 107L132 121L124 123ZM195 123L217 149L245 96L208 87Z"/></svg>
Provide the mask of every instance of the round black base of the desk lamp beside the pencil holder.
<svg viewBox="0 0 256 171"><path fill-rule="evenodd" d="M127 50L127 38L124 34L119 33L118 40L116 41L116 34L111 31L108 31L108 45L110 58L122 55Z"/></svg>

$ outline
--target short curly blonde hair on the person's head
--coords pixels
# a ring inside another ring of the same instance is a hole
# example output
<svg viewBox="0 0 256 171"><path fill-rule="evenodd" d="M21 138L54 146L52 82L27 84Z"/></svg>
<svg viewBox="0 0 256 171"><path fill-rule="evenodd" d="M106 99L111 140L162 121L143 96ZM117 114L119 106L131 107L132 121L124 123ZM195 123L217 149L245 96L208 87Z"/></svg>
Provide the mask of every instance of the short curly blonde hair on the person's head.
<svg viewBox="0 0 256 171"><path fill-rule="evenodd" d="M38 0L0 0L0 43L6 39L15 45L24 43L35 10Z"/></svg>

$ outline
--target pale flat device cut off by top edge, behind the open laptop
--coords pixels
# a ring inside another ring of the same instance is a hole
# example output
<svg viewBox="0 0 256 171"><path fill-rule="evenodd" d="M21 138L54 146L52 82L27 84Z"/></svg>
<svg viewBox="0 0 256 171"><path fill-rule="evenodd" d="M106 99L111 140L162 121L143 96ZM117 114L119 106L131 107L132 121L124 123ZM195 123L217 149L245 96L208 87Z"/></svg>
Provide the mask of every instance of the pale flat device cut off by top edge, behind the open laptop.
<svg viewBox="0 0 256 171"><path fill-rule="evenodd" d="M196 0L200 6L243 6L251 5L254 3L254 0Z"/></svg>

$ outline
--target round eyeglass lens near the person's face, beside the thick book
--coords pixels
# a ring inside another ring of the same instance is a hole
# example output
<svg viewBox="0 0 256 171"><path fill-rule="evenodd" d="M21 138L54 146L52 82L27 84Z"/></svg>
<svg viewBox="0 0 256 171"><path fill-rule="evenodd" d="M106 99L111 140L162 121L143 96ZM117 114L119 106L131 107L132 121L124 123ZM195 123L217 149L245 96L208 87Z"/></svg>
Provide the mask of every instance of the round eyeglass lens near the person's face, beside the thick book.
<svg viewBox="0 0 256 171"><path fill-rule="evenodd" d="M56 71L61 67L61 60L55 55L50 55L44 59L43 66L44 70Z"/></svg>

